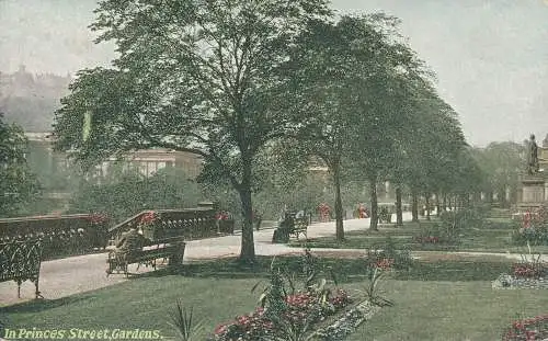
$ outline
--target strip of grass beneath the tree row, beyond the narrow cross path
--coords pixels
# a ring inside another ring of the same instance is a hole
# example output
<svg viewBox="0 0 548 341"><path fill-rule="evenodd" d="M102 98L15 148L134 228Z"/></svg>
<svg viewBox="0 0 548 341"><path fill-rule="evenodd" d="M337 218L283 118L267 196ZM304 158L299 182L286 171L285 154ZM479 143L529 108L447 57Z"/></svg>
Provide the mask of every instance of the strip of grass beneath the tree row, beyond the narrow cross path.
<svg viewBox="0 0 548 341"><path fill-rule="evenodd" d="M476 252L528 252L526 247L516 247L511 243L512 228L509 224L491 224L490 228L473 228L464 231L460 245L420 243L413 240L422 229L429 228L438 221L422 220L420 223L406 223L403 227L393 225L379 225L378 231L363 230L345 234L345 241L336 241L334 237L309 239L308 241L292 241L292 247L335 248L335 249L372 249L381 248L390 237L397 249L412 251L476 251ZM313 228L313 227L311 227ZM548 246L533 247L533 252L548 252Z"/></svg>

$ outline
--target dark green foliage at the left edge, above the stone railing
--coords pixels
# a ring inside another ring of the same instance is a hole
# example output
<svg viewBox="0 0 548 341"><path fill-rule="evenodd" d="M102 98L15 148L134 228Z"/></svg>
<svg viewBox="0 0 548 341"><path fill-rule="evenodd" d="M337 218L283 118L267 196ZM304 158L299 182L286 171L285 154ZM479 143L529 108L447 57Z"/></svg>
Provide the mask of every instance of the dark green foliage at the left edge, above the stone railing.
<svg viewBox="0 0 548 341"><path fill-rule="evenodd" d="M0 113L0 215L15 216L37 200L41 184L26 163L27 140L21 127Z"/></svg>

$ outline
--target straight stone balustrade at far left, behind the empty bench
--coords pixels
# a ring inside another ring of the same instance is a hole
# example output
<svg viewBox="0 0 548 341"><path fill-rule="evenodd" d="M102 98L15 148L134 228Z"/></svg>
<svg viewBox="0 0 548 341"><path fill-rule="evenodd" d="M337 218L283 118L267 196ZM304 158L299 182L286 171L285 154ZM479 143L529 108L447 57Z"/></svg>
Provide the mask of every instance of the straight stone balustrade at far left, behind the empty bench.
<svg viewBox="0 0 548 341"><path fill-rule="evenodd" d="M43 259L92 252L107 245L107 219L75 214L0 219L0 242L41 240Z"/></svg>

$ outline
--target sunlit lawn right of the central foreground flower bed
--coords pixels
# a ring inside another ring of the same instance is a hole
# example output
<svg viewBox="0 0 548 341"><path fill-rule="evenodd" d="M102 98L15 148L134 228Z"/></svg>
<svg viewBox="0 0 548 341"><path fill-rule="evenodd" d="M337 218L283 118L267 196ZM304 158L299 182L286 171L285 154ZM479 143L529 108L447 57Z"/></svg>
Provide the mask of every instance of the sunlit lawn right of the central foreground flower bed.
<svg viewBox="0 0 548 341"><path fill-rule="evenodd" d="M494 291L486 281L389 281L393 307L383 308L350 341L491 341L516 316L548 312L543 291Z"/></svg>

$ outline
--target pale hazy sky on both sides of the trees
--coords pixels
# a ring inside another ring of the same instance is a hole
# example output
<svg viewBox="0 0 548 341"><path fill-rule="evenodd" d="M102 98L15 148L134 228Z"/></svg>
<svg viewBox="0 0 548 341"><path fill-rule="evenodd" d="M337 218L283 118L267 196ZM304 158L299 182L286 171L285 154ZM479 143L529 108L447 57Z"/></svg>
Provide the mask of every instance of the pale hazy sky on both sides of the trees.
<svg viewBox="0 0 548 341"><path fill-rule="evenodd" d="M0 71L73 75L107 66L93 43L95 0L0 0ZM332 0L342 13L384 11L437 75L467 141L548 134L548 0Z"/></svg>

